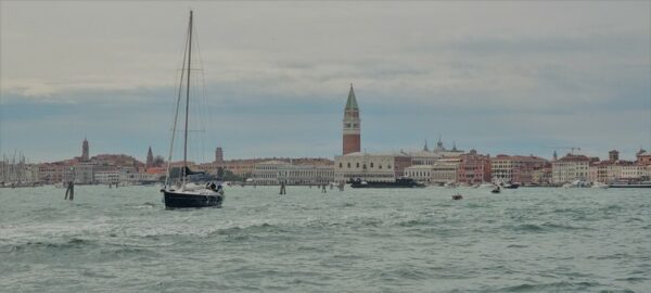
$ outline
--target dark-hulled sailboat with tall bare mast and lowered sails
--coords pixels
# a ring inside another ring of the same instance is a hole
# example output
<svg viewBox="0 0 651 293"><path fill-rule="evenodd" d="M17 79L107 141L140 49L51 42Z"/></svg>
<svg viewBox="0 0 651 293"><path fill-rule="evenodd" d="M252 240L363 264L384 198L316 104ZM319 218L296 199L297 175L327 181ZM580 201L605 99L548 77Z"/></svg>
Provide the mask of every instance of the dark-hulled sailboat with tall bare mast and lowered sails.
<svg viewBox="0 0 651 293"><path fill-rule="evenodd" d="M187 61L187 63L186 63ZM224 189L220 182L207 182L205 186L197 186L189 181L189 177L196 174L188 167L188 117L190 114L190 64L192 61L192 11L190 11L190 23L188 25L188 38L186 43L186 52L183 54L183 66L181 69L181 78L179 92L177 97L177 106L174 118L174 127L171 130L171 142L169 145L169 156L167 160L167 176L165 187L161 189L163 192L163 201L166 208L181 207L220 207L224 202ZM177 132L177 120L179 116L179 105L181 104L181 92L183 89L183 79L186 79L186 130L183 136L183 166L180 170L181 179L179 184L173 184L170 181L170 164L174 150L174 140Z"/></svg>

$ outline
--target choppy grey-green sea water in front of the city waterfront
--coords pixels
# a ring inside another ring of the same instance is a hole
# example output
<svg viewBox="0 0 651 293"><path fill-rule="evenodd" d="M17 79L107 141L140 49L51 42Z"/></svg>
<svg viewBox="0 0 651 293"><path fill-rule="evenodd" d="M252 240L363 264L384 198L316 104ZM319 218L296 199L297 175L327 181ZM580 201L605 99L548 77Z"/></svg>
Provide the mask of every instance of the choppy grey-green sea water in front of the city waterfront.
<svg viewBox="0 0 651 293"><path fill-rule="evenodd" d="M0 292L651 292L648 189L226 191L0 189Z"/></svg>

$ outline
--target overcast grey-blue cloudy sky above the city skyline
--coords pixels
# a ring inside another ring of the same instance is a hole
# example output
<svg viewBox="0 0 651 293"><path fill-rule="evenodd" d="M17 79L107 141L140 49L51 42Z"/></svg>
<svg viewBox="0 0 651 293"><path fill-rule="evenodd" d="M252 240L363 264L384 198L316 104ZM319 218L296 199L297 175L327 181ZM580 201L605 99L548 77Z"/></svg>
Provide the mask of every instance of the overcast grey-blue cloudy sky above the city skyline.
<svg viewBox="0 0 651 293"><path fill-rule="evenodd" d="M368 152L651 149L650 1L4 0L0 153L166 154L190 9L196 161L341 153L350 82Z"/></svg>

